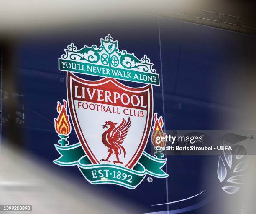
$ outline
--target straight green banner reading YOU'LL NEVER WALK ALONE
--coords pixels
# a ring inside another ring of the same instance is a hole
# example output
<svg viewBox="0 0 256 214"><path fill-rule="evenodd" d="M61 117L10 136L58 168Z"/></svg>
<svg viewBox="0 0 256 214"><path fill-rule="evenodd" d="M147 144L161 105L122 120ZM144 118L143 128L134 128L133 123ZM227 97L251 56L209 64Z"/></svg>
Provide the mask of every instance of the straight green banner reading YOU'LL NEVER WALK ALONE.
<svg viewBox="0 0 256 214"><path fill-rule="evenodd" d="M147 83L159 86L159 74L146 73L106 65L96 65L59 58L59 70L84 73L95 76L111 77L120 80Z"/></svg>

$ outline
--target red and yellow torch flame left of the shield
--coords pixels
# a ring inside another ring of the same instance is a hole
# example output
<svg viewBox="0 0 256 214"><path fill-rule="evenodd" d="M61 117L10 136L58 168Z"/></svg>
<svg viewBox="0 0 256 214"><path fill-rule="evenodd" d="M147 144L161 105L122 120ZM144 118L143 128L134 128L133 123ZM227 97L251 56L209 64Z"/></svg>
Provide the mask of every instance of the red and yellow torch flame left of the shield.
<svg viewBox="0 0 256 214"><path fill-rule="evenodd" d="M69 135L71 132L71 124L69 122L69 115L67 115L67 101L63 99L63 105L58 102L57 112L59 113L58 119L54 118L56 132Z"/></svg>

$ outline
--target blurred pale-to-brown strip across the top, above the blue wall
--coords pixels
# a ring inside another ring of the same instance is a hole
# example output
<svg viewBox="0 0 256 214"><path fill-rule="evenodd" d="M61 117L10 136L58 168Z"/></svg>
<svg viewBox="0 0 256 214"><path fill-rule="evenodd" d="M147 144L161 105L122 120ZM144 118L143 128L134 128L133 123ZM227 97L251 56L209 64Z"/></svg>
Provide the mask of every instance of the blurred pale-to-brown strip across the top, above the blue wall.
<svg viewBox="0 0 256 214"><path fill-rule="evenodd" d="M14 1L0 0L0 36L20 37L72 25L90 25L106 18L153 14L210 27L255 35L253 1L129 0Z"/></svg>

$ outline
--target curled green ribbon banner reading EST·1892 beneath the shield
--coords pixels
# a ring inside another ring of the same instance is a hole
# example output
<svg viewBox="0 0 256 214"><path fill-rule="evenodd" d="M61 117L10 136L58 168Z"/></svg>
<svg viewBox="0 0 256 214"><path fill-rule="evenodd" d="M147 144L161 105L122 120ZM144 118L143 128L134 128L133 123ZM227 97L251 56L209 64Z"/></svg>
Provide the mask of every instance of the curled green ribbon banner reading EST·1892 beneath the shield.
<svg viewBox="0 0 256 214"><path fill-rule="evenodd" d="M55 144L55 147L61 157L56 159L54 163L60 166L77 165L85 179L91 184L118 184L134 189L141 183L146 174L158 178L168 177L168 174L161 169L167 159L155 158L145 151L133 169L129 169L111 164L92 164L80 143L71 146Z"/></svg>

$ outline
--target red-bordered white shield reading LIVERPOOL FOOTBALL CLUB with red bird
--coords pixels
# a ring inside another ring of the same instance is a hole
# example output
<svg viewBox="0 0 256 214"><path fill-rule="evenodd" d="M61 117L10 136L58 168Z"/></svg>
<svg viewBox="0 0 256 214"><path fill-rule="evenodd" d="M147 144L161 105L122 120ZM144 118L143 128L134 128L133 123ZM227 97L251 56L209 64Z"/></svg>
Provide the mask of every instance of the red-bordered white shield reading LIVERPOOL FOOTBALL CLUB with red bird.
<svg viewBox="0 0 256 214"><path fill-rule="evenodd" d="M67 72L72 122L93 164L133 168L151 129L152 86L125 86L113 78L88 81Z"/></svg>

